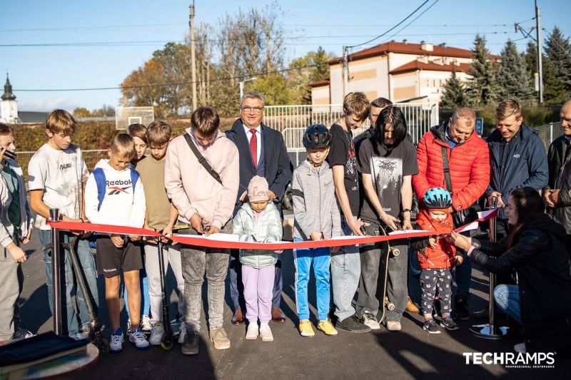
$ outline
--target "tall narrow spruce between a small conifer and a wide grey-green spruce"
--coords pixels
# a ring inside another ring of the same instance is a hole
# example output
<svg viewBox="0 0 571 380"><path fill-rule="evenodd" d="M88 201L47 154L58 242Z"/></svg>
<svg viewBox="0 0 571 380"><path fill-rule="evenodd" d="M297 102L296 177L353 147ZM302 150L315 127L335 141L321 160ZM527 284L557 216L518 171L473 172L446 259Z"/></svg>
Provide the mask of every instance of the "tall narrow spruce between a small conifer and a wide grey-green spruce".
<svg viewBox="0 0 571 380"><path fill-rule="evenodd" d="M473 58L468 71L468 97L473 106L485 106L497 98L495 64L490 60L490 51L485 43L486 39L476 34Z"/></svg>

